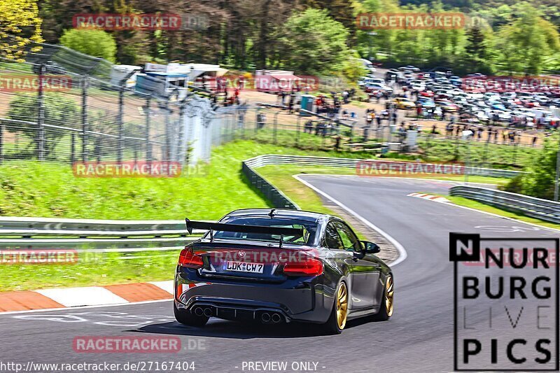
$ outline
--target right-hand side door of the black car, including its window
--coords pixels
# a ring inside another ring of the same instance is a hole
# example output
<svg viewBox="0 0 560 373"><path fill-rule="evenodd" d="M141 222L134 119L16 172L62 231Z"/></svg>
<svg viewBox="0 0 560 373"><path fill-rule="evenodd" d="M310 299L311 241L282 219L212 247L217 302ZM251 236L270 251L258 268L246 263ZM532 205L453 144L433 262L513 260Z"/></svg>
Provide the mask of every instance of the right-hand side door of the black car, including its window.
<svg viewBox="0 0 560 373"><path fill-rule="evenodd" d="M351 253L346 259L350 269L350 309L363 309L377 306L379 302L379 262L372 254L360 258L362 243L346 223L333 222L342 241L344 251Z"/></svg>

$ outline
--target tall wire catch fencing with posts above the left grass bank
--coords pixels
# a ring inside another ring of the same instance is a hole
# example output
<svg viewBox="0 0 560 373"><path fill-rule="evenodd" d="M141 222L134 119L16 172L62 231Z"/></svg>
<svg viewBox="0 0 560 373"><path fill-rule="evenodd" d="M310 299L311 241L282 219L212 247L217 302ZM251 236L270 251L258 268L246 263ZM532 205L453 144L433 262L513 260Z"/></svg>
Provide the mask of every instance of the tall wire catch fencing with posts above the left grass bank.
<svg viewBox="0 0 560 373"><path fill-rule="evenodd" d="M0 162L209 161L232 139L246 106L220 107L164 80L57 45L36 44L25 62L0 59ZM205 94L202 92L201 94Z"/></svg>

